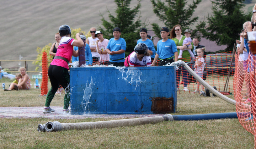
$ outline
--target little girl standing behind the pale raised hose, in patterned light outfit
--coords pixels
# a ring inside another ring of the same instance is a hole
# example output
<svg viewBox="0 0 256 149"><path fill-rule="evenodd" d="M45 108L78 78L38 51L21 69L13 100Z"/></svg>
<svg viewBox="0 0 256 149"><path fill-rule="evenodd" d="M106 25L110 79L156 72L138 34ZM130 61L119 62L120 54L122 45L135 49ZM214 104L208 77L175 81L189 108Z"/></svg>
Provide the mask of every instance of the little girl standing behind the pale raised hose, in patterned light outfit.
<svg viewBox="0 0 256 149"><path fill-rule="evenodd" d="M197 57L196 57L196 64L194 65L195 67L195 72L196 74L203 78L203 71L204 71L204 66L205 66L205 63L204 63L204 51L205 51L205 48L199 48L199 49L196 49L196 52L197 52ZM196 87L196 90L193 92L193 93L199 93L199 81L197 81L197 87ZM201 84L201 93L204 93L204 86ZM203 94L204 95L204 94Z"/></svg>

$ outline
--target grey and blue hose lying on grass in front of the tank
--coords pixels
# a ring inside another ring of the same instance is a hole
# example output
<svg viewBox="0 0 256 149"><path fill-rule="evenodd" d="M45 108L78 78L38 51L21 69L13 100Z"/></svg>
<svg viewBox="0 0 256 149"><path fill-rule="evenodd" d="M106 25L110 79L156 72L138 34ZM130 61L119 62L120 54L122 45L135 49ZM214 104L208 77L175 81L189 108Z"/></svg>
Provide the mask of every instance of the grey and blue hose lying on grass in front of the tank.
<svg viewBox="0 0 256 149"><path fill-rule="evenodd" d="M155 124L164 121L191 121L191 120L210 120L220 118L237 118L236 112L233 113L214 113L214 114L197 114L197 115L170 115L156 117L145 117L145 118L131 118L125 120L111 120L111 121L100 121L100 122L83 122L83 123L60 123L60 122L47 122L42 125L39 124L37 130L39 132L52 132L52 131L63 131L72 129L93 129L93 128L114 128L121 126L135 126L145 124Z"/></svg>

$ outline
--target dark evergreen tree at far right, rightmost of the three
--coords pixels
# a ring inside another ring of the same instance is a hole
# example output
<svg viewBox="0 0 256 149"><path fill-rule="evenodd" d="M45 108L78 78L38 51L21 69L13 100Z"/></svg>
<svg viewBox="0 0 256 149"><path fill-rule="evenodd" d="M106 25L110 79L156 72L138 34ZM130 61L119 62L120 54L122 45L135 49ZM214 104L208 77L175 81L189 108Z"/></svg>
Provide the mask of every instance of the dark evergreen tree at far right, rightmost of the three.
<svg viewBox="0 0 256 149"><path fill-rule="evenodd" d="M245 14L241 9L244 0L215 0L212 1L213 15L197 25L202 36L217 45L227 45L225 51L233 51L236 39L245 21L251 20L251 14Z"/></svg>

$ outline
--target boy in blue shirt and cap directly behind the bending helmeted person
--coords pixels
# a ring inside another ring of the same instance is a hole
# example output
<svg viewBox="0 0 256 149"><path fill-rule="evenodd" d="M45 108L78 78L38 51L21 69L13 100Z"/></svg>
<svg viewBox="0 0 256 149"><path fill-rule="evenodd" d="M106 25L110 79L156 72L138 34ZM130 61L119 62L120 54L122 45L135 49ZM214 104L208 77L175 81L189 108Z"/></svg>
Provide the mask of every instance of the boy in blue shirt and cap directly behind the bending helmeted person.
<svg viewBox="0 0 256 149"><path fill-rule="evenodd" d="M156 50L155 50L155 47L154 47L154 44L153 44L152 40L149 40L147 38L147 36L148 36L148 31L145 28L141 28L140 29L140 37L142 39L139 39L137 41L137 45L139 43L145 43L148 46L148 52L151 54L151 56L150 56L151 57L151 61L153 61L154 58L155 58Z"/></svg>

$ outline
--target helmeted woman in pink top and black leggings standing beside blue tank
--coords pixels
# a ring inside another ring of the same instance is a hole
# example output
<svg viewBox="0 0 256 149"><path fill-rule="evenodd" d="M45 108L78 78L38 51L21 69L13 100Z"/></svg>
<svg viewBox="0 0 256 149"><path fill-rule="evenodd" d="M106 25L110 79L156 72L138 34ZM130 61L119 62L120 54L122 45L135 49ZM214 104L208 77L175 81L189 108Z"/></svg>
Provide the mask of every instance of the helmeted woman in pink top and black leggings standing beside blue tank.
<svg viewBox="0 0 256 149"><path fill-rule="evenodd" d="M70 38L71 29L68 25L62 25L59 28L60 39L57 53L49 66L48 76L52 84L52 88L49 90L46 96L46 104L44 105L43 113L54 112L55 110L50 108L50 103L58 90L59 85L65 89L66 94L64 96L63 114L69 112L68 107L70 103L70 87L69 87L69 67L68 63L71 60L71 56L78 56L78 50L75 51L73 46L82 47L84 42L80 38L80 34L76 34L76 39Z"/></svg>

